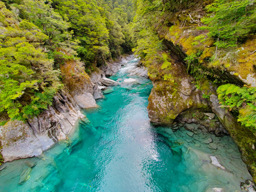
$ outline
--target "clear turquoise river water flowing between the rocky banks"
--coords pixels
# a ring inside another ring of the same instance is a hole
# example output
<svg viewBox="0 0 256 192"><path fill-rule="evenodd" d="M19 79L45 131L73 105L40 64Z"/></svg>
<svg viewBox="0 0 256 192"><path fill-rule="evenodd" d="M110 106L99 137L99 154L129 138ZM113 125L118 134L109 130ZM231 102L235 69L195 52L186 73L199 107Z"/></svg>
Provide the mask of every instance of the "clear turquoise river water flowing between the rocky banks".
<svg viewBox="0 0 256 192"><path fill-rule="evenodd" d="M129 61L111 79L123 82L130 78L127 75L136 62ZM173 133L170 128L149 123L147 105L152 83L144 77L132 78L137 83L110 87L113 92L97 100L99 108L84 110L88 119L77 122L67 140L42 156L4 164L7 167L0 172L0 191L197 192L205 191L208 185L216 187L213 185L221 183L220 179L222 186L228 185L231 179L225 179L226 173L212 178L212 173L207 175L200 169L203 161L195 151L187 152L194 141L184 142L191 139L184 130ZM238 154L230 138L223 140L227 140L228 149L233 148L232 153ZM227 162L231 159L227 157ZM19 185L21 172L31 162L37 164L30 170L29 179ZM237 162L237 169L246 174L241 159ZM213 166L209 162L206 165Z"/></svg>

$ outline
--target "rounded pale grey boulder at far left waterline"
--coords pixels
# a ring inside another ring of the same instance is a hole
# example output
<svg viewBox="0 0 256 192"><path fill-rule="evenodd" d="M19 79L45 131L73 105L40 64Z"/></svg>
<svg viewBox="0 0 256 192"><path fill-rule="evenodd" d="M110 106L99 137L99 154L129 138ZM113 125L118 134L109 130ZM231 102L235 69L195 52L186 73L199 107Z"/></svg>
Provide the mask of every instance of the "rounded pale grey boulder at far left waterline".
<svg viewBox="0 0 256 192"><path fill-rule="evenodd" d="M9 121L0 127L4 162L42 154L39 140L31 127L22 121Z"/></svg>

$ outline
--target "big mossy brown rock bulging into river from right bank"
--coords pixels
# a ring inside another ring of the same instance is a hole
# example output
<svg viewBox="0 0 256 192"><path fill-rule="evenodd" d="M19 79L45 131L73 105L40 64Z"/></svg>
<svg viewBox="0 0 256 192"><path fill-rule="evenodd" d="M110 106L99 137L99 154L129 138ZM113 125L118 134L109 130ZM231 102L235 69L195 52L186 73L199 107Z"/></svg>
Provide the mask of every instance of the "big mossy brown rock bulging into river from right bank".
<svg viewBox="0 0 256 192"><path fill-rule="evenodd" d="M202 97L202 92L196 89L193 78L187 74L185 66L177 62L172 71L173 82L151 78L154 87L148 98L150 121L172 124L184 110L200 109L211 112L208 101Z"/></svg>

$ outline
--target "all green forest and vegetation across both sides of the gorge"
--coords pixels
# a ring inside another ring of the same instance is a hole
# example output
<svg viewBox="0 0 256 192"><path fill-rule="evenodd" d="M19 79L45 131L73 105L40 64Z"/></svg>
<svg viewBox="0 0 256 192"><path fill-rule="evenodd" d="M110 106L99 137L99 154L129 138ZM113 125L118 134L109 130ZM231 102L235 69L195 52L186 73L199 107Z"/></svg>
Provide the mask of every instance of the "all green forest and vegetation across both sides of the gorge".
<svg viewBox="0 0 256 192"><path fill-rule="evenodd" d="M24 121L51 105L63 86L60 65L70 59L90 74L133 51L152 80L175 87L169 39L186 52L181 58L203 97L210 98L203 85L211 82L222 107L256 128L256 88L221 75L229 69L244 78L255 71L254 1L5 0L0 6L3 116Z"/></svg>

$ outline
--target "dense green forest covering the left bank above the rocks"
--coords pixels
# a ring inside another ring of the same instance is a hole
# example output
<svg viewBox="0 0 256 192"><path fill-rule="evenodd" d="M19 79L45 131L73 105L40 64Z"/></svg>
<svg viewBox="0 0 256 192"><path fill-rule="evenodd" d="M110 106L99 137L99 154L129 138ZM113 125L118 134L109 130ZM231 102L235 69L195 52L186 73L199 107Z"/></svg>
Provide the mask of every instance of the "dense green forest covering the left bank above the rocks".
<svg viewBox="0 0 256 192"><path fill-rule="evenodd" d="M133 47L129 0L14 0L0 6L0 112L12 119L24 121L51 105L63 86L65 60L76 60L90 74Z"/></svg>

